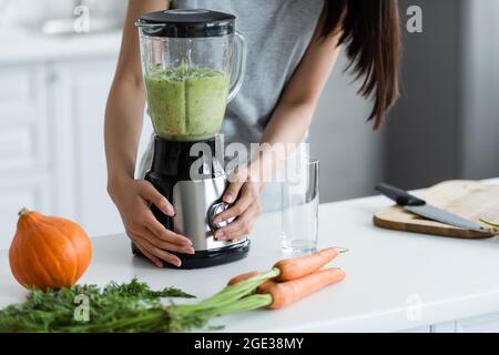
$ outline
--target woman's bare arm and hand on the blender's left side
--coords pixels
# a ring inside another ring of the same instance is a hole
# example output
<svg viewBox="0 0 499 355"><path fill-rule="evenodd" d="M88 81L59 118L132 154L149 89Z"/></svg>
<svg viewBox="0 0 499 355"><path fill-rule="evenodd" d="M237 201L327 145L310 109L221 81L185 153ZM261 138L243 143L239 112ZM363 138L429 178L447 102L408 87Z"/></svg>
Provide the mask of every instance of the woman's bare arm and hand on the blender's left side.
<svg viewBox="0 0 499 355"><path fill-rule="evenodd" d="M120 211L126 234L141 252L162 266L180 265L167 251L193 254L189 239L167 231L156 221L150 204L173 215L173 206L154 186L135 180L135 162L145 105L136 19L144 12L164 10L165 0L130 0L116 73L105 110L104 139L108 191Z"/></svg>

